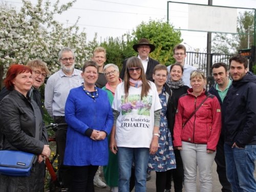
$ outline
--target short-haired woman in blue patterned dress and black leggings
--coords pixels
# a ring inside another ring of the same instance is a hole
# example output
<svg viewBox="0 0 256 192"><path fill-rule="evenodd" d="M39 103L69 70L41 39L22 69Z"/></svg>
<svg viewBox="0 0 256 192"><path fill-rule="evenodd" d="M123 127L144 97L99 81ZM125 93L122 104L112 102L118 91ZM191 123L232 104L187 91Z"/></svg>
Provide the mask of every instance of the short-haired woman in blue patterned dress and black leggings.
<svg viewBox="0 0 256 192"><path fill-rule="evenodd" d="M150 156L148 169L156 171L157 192L164 191L168 171L176 168L172 137L167 124L167 111L172 105L172 91L165 83L167 74L168 71L164 65L159 64L154 68L153 79L157 87L162 110L160 115L158 151Z"/></svg>

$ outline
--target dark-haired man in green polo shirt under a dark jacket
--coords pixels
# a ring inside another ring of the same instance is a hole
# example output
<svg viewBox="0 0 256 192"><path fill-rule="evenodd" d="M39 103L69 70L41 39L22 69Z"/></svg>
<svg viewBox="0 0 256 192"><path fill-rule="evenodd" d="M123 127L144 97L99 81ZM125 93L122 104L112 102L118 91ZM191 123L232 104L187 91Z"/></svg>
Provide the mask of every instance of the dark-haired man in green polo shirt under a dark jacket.
<svg viewBox="0 0 256 192"><path fill-rule="evenodd" d="M227 95L228 89L230 88L232 81L229 79L227 65L223 62L217 62L211 67L212 75L216 84L212 86L209 90L209 93L215 95L221 105ZM223 109L221 109L223 112ZM222 125L224 122L224 114L222 114ZM223 127L223 126L222 126ZM227 180L226 176L226 163L224 156L224 130L221 130L220 139L217 145L217 152L215 156L215 162L217 164L217 173L219 175L219 181L222 185L222 192L231 192L231 185Z"/></svg>

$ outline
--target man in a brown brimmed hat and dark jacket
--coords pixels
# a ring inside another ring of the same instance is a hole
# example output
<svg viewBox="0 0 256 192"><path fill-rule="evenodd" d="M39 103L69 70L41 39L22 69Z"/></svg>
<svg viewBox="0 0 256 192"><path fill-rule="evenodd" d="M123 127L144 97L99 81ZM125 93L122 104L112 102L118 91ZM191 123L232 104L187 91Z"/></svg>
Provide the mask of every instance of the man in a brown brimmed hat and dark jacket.
<svg viewBox="0 0 256 192"><path fill-rule="evenodd" d="M148 55L155 50L155 46L150 43L150 41L146 38L141 38L138 42L138 44L135 44L133 46L134 51L138 52L138 57L142 62L145 74L146 74L146 79L153 81L153 70L156 65L159 64L157 60L154 60L151 57L148 57ZM123 61L123 67L120 73L120 78L123 79L124 77L124 72L126 69L126 62L127 59Z"/></svg>

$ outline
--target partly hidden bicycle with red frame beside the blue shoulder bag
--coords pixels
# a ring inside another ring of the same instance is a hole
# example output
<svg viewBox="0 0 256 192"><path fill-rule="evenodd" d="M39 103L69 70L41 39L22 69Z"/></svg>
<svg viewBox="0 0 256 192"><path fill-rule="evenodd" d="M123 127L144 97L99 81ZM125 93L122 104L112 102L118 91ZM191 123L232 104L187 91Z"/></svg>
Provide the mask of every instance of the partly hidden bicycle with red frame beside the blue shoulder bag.
<svg viewBox="0 0 256 192"><path fill-rule="evenodd" d="M58 129L61 129L61 126L67 126L67 123L51 123L50 125L47 125L46 129L48 131L48 135L50 135L49 132L51 130L56 132ZM51 154L52 154L51 157L46 158L46 160L45 160L45 164L46 164L47 170L49 172L49 177L46 176L46 180L49 180L49 191L50 192L59 192L59 191L65 192L65 191L67 191L67 189L65 190L65 189L61 188L62 183L59 182L59 180L58 180L58 174L57 174L58 152L56 149L56 139L55 139L55 137L49 137L48 141L49 141L49 145L51 148ZM55 165L57 165L57 167Z"/></svg>

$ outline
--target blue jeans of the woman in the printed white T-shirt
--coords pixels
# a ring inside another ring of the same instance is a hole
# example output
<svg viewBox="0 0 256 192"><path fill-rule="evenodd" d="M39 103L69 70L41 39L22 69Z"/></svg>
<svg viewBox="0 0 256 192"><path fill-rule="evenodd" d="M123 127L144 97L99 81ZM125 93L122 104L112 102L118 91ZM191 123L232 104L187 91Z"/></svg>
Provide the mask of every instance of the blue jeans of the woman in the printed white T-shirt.
<svg viewBox="0 0 256 192"><path fill-rule="evenodd" d="M118 191L129 192L132 164L135 164L135 192L146 191L149 148L118 147Z"/></svg>

